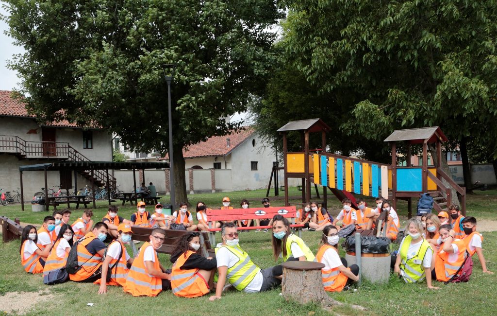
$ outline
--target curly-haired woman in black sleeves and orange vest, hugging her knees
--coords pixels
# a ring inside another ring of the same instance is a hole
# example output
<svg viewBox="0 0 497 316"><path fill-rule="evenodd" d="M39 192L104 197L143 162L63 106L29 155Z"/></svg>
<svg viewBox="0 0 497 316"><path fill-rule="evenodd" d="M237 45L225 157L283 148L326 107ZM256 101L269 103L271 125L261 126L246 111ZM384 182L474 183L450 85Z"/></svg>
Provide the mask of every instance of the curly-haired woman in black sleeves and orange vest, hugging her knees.
<svg viewBox="0 0 497 316"><path fill-rule="evenodd" d="M194 298L209 293L217 262L215 258L200 255L200 234L181 236L171 255L171 288L178 297Z"/></svg>

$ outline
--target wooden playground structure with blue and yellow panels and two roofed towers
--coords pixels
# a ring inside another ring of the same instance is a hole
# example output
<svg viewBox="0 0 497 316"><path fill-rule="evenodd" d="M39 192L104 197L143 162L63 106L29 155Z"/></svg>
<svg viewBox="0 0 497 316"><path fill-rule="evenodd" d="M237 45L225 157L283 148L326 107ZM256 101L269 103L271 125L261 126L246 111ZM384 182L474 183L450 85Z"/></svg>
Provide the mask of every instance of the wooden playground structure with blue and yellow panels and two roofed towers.
<svg viewBox="0 0 497 316"><path fill-rule="evenodd" d="M302 203L311 200L311 184L323 187L323 206L327 206L328 190L340 201L348 198L357 209L353 194L377 198L379 196L392 201L397 209L397 200L408 203L408 216L412 216L412 199L423 193L433 197L433 209L437 212L447 211L454 199L461 204L461 211L466 214L466 190L459 187L441 168L442 145L447 141L438 126L395 130L385 139L392 146L392 164L378 163L353 157L340 156L326 152L326 133L331 128L320 118L291 121L278 129L283 135L284 187L285 205L289 204L288 179L302 179ZM288 132L298 131L302 141L300 151L289 152ZM321 149L309 148L310 133L321 133ZM408 162L406 166L397 165L398 142L405 142ZM435 165L428 165L428 144L436 148ZM411 146L422 145L422 164L412 166ZM445 180L445 184L442 182ZM451 193L455 190L457 196Z"/></svg>

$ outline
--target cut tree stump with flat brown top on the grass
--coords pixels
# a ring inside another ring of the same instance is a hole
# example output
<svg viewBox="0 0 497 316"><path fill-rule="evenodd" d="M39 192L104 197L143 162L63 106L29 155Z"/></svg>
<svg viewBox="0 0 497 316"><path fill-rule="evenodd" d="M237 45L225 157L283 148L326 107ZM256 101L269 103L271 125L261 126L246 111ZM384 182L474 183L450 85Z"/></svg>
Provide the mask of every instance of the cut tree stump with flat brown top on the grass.
<svg viewBox="0 0 497 316"><path fill-rule="evenodd" d="M325 267L323 263L289 261L284 262L282 266L281 293L286 300L291 299L300 304L329 303L330 297L326 294L321 273L321 269Z"/></svg>

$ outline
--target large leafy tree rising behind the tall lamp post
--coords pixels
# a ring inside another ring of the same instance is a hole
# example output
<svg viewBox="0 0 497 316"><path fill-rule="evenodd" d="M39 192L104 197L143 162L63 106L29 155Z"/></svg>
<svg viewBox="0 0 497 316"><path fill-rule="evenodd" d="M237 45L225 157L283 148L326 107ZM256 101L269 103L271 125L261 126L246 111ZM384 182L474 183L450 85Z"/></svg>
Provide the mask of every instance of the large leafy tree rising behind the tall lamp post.
<svg viewBox="0 0 497 316"><path fill-rule="evenodd" d="M164 65L176 65L176 202L187 201L182 149L239 128L225 118L264 87L275 37L267 28L282 16L267 0L3 1L8 33L26 49L8 66L42 120L97 124L132 150L166 153Z"/></svg>

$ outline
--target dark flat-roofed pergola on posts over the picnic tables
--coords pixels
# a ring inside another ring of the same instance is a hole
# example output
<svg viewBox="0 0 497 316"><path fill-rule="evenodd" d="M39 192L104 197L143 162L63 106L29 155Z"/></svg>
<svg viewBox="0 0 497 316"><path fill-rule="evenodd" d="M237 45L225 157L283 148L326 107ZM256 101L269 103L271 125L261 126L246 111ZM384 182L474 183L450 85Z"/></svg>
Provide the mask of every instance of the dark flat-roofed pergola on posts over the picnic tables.
<svg viewBox="0 0 497 316"><path fill-rule="evenodd" d="M113 162L113 161L62 161L53 163L44 163L36 165L27 165L19 167L20 176L20 188L21 188L21 203L22 211L24 211L24 190L22 185L22 173L24 171L43 171L45 173L45 196L48 197L48 183L47 183L47 172L48 171L59 171L61 173L61 184L63 189L69 191L70 185L72 183L72 172L74 172L74 188L78 188L77 174L78 172L89 172L91 175L91 188L94 191L95 185L93 181L93 174L95 170L105 170L106 179L106 190L110 192L109 185L109 170L133 170L133 183L136 190L136 175L135 170L142 170L143 177L145 181L145 169L164 169L169 168L169 164L166 162ZM69 193L69 192L68 192ZM110 205L110 198L109 198ZM49 204L45 203L46 210L48 211ZM93 195L93 208L95 208L95 195Z"/></svg>

